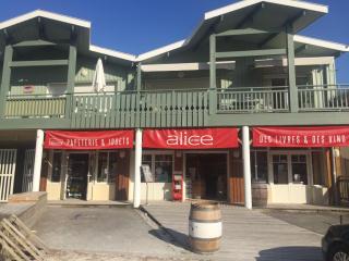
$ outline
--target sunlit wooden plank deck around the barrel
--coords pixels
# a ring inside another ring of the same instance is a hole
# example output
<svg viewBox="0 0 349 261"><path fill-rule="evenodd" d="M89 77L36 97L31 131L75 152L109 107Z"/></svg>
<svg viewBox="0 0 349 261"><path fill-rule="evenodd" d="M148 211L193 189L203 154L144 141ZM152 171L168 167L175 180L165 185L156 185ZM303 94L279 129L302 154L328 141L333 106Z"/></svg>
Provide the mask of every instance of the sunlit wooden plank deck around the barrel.
<svg viewBox="0 0 349 261"><path fill-rule="evenodd" d="M144 206L181 245L186 245L189 203ZM261 210L222 206L221 249L212 260L322 260L321 235L265 215Z"/></svg>

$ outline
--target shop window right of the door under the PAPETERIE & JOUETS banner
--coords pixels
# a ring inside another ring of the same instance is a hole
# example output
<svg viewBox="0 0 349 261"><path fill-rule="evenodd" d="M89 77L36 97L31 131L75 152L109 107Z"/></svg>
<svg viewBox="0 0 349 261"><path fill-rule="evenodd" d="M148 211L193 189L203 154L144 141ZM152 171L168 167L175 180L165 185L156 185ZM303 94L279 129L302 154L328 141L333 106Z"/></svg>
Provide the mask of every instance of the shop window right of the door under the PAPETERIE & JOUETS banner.
<svg viewBox="0 0 349 261"><path fill-rule="evenodd" d="M117 152L99 152L98 154L98 183L115 183L117 175Z"/></svg>

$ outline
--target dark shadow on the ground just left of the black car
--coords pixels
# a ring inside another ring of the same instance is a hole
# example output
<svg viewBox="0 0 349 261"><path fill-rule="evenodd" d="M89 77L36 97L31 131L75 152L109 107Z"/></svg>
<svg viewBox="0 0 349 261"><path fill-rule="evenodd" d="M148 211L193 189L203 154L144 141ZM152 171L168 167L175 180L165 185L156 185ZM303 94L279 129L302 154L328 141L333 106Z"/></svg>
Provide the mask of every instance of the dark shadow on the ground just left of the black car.
<svg viewBox="0 0 349 261"><path fill-rule="evenodd" d="M260 251L256 261L322 261L320 247L279 247Z"/></svg>

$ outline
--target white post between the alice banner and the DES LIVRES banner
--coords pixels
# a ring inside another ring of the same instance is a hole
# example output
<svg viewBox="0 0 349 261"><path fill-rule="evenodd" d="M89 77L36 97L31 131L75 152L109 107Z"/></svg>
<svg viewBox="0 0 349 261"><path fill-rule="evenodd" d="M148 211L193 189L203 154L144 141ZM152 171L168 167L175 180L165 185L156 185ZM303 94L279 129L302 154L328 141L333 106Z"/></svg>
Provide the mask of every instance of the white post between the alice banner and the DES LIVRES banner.
<svg viewBox="0 0 349 261"><path fill-rule="evenodd" d="M242 159L244 181L244 207L252 209L252 185L251 185L251 159L250 159L250 128L242 127Z"/></svg>

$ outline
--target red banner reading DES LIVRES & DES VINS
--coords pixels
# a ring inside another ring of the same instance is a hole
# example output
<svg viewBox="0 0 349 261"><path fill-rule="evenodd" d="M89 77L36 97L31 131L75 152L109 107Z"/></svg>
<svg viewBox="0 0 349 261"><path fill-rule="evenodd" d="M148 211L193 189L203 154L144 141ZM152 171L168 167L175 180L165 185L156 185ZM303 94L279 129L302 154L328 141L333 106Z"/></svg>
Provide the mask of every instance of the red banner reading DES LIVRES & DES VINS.
<svg viewBox="0 0 349 261"><path fill-rule="evenodd" d="M254 147L342 147L349 146L349 126L254 127Z"/></svg>

